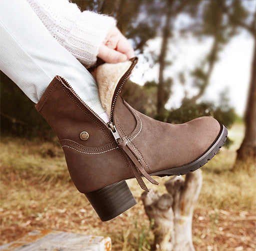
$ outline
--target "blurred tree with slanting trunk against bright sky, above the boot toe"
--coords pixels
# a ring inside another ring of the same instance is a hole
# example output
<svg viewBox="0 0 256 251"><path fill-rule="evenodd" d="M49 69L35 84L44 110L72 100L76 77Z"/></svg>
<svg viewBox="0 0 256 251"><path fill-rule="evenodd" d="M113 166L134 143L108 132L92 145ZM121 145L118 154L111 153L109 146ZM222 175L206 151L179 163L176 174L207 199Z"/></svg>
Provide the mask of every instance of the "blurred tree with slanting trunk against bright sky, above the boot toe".
<svg viewBox="0 0 256 251"><path fill-rule="evenodd" d="M209 54L205 56L199 66L191 72L194 87L198 88L197 94L191 98L184 97L182 103L187 105L194 105L196 101L203 95L206 87L209 84L210 76L214 65L218 59L218 52L223 47L222 45L230 39L226 35L227 25L223 22L223 0L210 0L201 3L202 11L200 18L192 26L188 26L188 30L193 31L198 38L210 36L213 38ZM197 14L198 16L198 14Z"/></svg>

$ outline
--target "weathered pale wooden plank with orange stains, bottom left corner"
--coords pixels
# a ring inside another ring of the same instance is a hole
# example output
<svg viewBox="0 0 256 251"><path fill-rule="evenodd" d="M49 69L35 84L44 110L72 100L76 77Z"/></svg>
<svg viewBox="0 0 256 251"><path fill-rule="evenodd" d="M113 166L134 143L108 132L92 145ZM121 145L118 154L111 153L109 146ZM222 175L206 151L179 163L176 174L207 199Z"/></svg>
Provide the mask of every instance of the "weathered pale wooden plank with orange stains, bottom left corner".
<svg viewBox="0 0 256 251"><path fill-rule="evenodd" d="M0 251L111 251L111 239L51 230L36 230L0 246Z"/></svg>

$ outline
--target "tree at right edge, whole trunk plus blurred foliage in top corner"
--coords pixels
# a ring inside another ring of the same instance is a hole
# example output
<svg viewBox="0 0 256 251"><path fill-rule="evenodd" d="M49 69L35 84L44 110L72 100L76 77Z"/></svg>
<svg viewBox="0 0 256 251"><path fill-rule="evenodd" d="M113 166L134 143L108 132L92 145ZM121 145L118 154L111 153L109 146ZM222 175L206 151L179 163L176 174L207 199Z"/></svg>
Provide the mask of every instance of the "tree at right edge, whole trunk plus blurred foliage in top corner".
<svg viewBox="0 0 256 251"><path fill-rule="evenodd" d="M247 5L248 4L248 5ZM246 30L254 41L251 75L244 114L245 135L237 150L234 168L256 167L256 1L225 1L224 11L233 28Z"/></svg>

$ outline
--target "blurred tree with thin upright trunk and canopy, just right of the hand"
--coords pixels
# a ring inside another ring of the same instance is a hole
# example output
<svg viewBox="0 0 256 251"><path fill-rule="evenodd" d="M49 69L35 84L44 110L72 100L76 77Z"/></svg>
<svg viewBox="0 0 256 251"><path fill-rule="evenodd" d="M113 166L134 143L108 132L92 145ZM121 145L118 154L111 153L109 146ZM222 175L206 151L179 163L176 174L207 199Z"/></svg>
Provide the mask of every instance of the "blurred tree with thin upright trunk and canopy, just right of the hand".
<svg viewBox="0 0 256 251"><path fill-rule="evenodd" d="M157 103L155 116L164 120L167 112L164 105L168 99L166 94L171 85L171 78L164 78L164 69L168 65L165 56L168 50L168 40L171 37L175 18L182 11L188 14L195 13L195 9L201 0L94 0L79 1L73 0L81 9L89 9L96 12L110 14L117 20L117 27L131 38L137 53L143 52L146 42L156 36L162 38L160 54L157 58L150 58L154 63L159 64L159 78L157 88Z"/></svg>

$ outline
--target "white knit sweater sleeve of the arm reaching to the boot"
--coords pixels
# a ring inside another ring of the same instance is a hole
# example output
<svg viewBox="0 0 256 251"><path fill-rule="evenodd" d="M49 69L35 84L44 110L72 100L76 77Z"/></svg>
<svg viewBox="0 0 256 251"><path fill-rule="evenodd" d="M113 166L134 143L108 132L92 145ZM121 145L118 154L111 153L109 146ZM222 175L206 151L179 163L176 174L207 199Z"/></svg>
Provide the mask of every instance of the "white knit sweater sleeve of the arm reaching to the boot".
<svg viewBox="0 0 256 251"><path fill-rule="evenodd" d="M83 11L68 0L27 0L52 36L86 67L96 62L113 17Z"/></svg>

